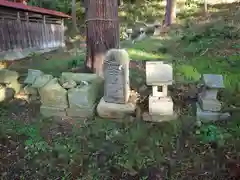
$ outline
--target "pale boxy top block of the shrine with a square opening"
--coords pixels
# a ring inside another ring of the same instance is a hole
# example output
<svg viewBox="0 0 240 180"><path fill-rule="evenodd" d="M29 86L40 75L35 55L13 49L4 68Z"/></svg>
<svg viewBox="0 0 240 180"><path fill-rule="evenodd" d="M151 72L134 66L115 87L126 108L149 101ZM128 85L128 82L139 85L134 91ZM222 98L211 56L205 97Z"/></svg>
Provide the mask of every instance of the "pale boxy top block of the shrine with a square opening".
<svg viewBox="0 0 240 180"><path fill-rule="evenodd" d="M162 61L146 62L147 85L161 86L171 85L173 82L172 65L164 64Z"/></svg>

